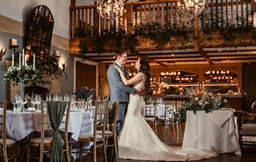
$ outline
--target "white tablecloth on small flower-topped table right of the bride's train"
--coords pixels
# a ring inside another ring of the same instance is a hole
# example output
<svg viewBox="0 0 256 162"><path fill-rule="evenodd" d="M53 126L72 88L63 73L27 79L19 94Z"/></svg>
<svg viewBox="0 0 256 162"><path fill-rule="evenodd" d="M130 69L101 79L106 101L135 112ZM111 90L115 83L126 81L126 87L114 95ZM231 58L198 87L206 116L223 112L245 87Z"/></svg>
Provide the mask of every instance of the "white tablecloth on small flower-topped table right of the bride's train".
<svg viewBox="0 0 256 162"><path fill-rule="evenodd" d="M216 153L240 154L237 123L231 110L211 113L187 111L183 148L195 148Z"/></svg>

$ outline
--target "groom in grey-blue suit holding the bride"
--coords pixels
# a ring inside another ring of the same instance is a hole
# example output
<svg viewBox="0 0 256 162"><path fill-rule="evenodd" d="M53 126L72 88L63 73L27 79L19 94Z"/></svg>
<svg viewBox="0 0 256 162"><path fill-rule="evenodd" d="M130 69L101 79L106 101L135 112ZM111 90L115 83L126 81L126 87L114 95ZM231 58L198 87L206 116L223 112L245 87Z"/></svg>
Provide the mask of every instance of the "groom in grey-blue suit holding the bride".
<svg viewBox="0 0 256 162"><path fill-rule="evenodd" d="M109 101L116 102L119 100L119 111L117 116L117 135L119 135L120 130L123 127L123 121L125 117L126 107L129 100L129 93L130 94L137 94L139 96L143 95L142 89L135 89L132 86L125 86L123 84L123 81L121 77L119 76L119 72L115 68L115 66L119 66L120 69L123 70L124 76L128 78L128 73L126 72L126 69L123 68L123 65L126 63L127 54L126 51L119 49L115 53L116 61L112 63L112 66L109 67L107 76L109 80L109 86L110 86L110 95L109 95Z"/></svg>

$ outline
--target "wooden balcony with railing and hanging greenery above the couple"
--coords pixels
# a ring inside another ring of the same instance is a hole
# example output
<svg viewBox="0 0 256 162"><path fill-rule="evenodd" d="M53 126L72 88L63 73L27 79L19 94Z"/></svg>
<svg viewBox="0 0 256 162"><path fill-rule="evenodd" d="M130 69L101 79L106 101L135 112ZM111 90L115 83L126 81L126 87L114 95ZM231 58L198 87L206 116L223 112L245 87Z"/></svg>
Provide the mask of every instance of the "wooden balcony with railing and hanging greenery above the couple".
<svg viewBox="0 0 256 162"><path fill-rule="evenodd" d="M95 5L70 8L71 54L110 62L112 52L121 48L133 53L132 60L147 54L158 59L157 64L172 61L167 53L184 54L206 63L226 60L227 55L234 62L256 60L251 55L256 50L254 1L206 0L198 17L182 14L175 0L124 5L125 13L112 25L99 16ZM225 53L211 56L219 52ZM232 59L236 52L244 54ZM99 53L104 53L102 58ZM182 62L182 57L178 59Z"/></svg>

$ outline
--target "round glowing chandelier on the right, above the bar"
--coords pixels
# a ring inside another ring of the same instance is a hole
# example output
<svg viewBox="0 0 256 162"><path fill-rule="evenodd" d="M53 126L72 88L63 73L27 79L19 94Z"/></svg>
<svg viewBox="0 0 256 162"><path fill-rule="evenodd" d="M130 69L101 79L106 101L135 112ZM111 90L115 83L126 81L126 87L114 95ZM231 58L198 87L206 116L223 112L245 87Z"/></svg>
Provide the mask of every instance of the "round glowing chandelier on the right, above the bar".
<svg viewBox="0 0 256 162"><path fill-rule="evenodd" d="M179 10L187 15L199 15L205 7L206 0L178 0Z"/></svg>

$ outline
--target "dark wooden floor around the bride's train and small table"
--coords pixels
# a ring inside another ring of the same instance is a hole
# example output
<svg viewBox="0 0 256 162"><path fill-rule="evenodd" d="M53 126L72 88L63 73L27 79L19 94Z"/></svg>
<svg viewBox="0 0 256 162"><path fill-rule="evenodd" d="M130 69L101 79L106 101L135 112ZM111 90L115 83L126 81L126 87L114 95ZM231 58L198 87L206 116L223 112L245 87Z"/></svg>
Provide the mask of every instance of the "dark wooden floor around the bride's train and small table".
<svg viewBox="0 0 256 162"><path fill-rule="evenodd" d="M162 137L160 136L160 139ZM173 136L168 135L166 138L166 142L170 146L182 146L183 134L181 136ZM102 154L99 155L99 159L97 158L97 162L103 162ZM88 156L86 162L91 162L92 157ZM217 157L206 159L206 160L198 160L200 162L256 162L256 146L254 147L243 147L242 155L236 154L219 154ZM119 159L119 162L149 162L148 160L124 160Z"/></svg>

